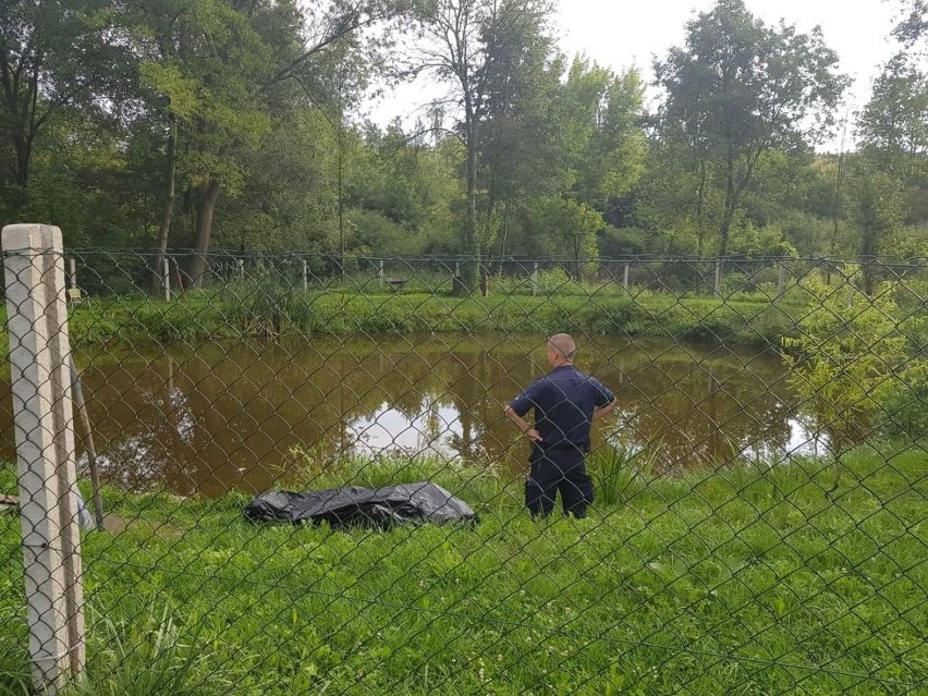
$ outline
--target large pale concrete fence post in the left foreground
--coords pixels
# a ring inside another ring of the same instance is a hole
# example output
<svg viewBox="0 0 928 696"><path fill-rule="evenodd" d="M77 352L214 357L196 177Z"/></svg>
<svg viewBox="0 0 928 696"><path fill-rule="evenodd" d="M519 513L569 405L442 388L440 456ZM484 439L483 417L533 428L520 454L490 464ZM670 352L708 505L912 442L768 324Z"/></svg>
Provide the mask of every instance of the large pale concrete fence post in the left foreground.
<svg viewBox="0 0 928 696"><path fill-rule="evenodd" d="M33 687L54 694L85 661L61 231L8 225L2 243Z"/></svg>

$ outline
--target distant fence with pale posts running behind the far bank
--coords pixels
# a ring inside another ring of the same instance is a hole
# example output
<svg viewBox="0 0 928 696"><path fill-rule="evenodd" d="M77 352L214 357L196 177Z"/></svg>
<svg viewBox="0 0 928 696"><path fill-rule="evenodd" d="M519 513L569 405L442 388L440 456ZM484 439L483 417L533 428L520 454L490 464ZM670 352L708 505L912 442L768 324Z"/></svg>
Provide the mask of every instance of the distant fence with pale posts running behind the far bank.
<svg viewBox="0 0 928 696"><path fill-rule="evenodd" d="M479 264L480 290L485 293L494 281L524 281L525 289L542 292L540 274L562 272L567 279L588 283L615 284L626 290L687 292L730 295L761 289L780 296L790 284L816 270L841 274L848 264L860 267L864 278L879 280L928 280L928 258L872 257L837 259L827 257L695 257L635 255L620 258L571 259L563 257L483 257L424 256L389 257L377 255L304 254L297 252L170 249L162 258L148 249L69 249L69 286L89 294L145 293L171 296L190 290L195 283L187 272L194 257L206 259L200 285L236 280L267 280L292 284L304 290L349 282L363 292L402 288L410 277L440 290L443 282L455 288L455 279L465 264ZM119 258L119 264L113 259ZM156 269L157 259L162 267ZM157 288L157 291L155 290Z"/></svg>

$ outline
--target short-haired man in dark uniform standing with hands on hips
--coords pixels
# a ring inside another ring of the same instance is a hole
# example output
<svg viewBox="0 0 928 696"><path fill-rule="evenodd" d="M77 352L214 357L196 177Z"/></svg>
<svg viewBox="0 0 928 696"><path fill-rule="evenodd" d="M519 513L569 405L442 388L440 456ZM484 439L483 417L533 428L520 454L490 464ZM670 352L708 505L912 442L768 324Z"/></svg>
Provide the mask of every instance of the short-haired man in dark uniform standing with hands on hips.
<svg viewBox="0 0 928 696"><path fill-rule="evenodd" d="M595 377L574 367L576 343L566 333L548 339L551 371L532 383L506 407L505 415L532 441L525 506L532 516L551 514L561 491L565 515L585 517L593 502L593 481L586 473L589 429L596 418L612 413L615 396ZM535 425L524 416L535 410Z"/></svg>

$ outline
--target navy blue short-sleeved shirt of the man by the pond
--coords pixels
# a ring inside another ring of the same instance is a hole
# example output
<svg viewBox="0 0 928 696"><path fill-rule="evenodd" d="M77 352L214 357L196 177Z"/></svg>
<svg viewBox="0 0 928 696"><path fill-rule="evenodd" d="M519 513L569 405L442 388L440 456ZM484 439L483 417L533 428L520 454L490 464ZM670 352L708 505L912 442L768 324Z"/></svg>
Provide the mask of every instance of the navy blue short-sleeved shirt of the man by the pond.
<svg viewBox="0 0 928 696"><path fill-rule="evenodd" d="M595 377L573 365L561 365L533 382L510 406L520 416L535 408L535 429L541 436L544 451L563 448L588 452L593 412L614 399Z"/></svg>

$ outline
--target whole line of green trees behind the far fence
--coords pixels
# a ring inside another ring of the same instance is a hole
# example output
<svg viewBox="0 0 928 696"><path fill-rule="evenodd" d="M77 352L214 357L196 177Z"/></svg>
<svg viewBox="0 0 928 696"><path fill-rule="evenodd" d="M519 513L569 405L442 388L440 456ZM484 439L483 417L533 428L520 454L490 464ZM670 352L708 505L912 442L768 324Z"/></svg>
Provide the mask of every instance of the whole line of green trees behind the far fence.
<svg viewBox="0 0 928 696"><path fill-rule="evenodd" d="M743 0L655 59L650 108L548 0L3 1L0 222L156 256L928 256L928 9L894 2L850 112L822 34ZM358 115L419 75L447 96L413 126Z"/></svg>

